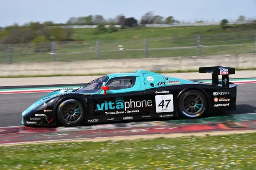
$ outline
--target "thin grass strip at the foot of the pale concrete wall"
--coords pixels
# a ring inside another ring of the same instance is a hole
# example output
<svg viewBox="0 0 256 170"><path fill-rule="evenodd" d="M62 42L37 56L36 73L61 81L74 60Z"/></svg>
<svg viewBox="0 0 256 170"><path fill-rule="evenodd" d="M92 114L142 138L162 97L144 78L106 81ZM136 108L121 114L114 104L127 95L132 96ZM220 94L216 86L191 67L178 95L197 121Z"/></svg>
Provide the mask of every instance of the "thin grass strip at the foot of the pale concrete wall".
<svg viewBox="0 0 256 170"><path fill-rule="evenodd" d="M236 71L256 70L256 68L236 68ZM176 71L153 71L159 74L165 73L198 73L199 70L176 70ZM110 73L96 73L96 74L55 74L55 75L19 75L19 76L0 76L0 78L25 78L25 77L67 77L67 76L101 76Z"/></svg>

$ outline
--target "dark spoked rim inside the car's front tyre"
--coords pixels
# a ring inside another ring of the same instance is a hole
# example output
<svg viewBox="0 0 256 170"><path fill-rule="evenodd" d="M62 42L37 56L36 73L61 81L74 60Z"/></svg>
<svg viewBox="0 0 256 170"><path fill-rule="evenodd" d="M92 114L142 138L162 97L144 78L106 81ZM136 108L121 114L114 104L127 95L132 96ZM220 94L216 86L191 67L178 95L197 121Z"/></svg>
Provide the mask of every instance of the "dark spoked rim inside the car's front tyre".
<svg viewBox="0 0 256 170"><path fill-rule="evenodd" d="M72 124L81 118L82 107L77 102L67 102L61 107L60 113L65 122Z"/></svg>

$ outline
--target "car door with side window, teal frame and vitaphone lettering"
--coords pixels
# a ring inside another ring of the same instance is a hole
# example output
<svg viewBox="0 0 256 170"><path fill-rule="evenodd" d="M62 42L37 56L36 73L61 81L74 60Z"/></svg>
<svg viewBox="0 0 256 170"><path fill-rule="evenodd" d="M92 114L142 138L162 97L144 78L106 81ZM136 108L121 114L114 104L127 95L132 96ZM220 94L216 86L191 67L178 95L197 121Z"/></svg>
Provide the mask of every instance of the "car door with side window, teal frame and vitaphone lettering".
<svg viewBox="0 0 256 170"><path fill-rule="evenodd" d="M94 116L118 118L122 116L143 115L152 101L144 97L141 91L140 77L115 77L105 86L109 91L104 95L102 90L94 96Z"/></svg>

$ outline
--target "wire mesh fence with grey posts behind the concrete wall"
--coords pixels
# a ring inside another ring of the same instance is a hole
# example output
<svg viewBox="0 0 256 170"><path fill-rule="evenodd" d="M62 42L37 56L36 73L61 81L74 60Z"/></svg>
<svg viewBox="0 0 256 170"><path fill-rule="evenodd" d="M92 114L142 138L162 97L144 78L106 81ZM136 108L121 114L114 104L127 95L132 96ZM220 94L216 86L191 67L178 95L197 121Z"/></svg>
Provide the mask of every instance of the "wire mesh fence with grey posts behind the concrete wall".
<svg viewBox="0 0 256 170"><path fill-rule="evenodd" d="M0 45L0 63L256 53L256 31L133 40Z"/></svg>

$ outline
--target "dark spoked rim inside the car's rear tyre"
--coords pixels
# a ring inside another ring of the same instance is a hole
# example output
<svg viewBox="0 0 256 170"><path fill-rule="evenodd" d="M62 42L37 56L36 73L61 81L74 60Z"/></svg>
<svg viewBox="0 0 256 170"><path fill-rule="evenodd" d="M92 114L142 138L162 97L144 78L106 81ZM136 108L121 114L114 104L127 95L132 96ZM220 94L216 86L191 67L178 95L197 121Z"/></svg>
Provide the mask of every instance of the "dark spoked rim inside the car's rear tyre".
<svg viewBox="0 0 256 170"><path fill-rule="evenodd" d="M202 97L195 93L187 94L182 100L182 107L189 115L197 115L203 110L203 106Z"/></svg>

